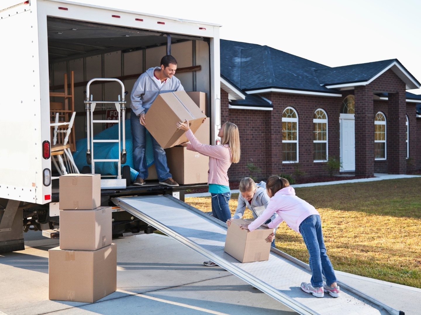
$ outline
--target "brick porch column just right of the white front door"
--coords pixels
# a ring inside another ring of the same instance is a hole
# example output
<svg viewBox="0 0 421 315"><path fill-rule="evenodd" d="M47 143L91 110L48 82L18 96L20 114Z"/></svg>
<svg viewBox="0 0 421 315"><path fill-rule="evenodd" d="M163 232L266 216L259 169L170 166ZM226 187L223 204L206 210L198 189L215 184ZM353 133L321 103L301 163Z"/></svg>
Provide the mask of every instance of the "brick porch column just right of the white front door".
<svg viewBox="0 0 421 315"><path fill-rule="evenodd" d="M374 175L373 91L355 87L355 175Z"/></svg>

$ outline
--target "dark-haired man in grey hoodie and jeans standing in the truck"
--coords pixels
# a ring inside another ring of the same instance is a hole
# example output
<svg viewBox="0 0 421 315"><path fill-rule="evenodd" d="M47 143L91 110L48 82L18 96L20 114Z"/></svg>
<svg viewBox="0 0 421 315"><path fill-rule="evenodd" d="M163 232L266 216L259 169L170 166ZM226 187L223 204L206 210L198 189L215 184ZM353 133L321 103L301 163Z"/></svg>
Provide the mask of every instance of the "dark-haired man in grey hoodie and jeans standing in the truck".
<svg viewBox="0 0 421 315"><path fill-rule="evenodd" d="M131 134L133 141L133 164L139 174L133 185L143 185L148 177L148 167L146 163L146 120L145 114L151 107L160 93L183 91L179 79L174 74L177 69L177 60L166 55L161 59L161 66L149 68L139 76L131 92ZM166 126L162 126L165 128ZM155 169L160 184L167 186L179 186L173 180L167 165L167 157L164 149L156 142L151 135L152 149L154 154Z"/></svg>

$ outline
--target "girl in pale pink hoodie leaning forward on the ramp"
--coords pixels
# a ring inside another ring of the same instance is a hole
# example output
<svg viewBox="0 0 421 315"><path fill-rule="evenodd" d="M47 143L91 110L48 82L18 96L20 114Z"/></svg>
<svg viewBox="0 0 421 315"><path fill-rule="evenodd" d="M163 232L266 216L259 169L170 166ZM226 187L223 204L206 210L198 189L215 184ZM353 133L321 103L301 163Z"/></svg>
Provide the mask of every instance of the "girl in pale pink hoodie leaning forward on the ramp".
<svg viewBox="0 0 421 315"><path fill-rule="evenodd" d="M285 221L290 228L303 236L309 251L312 277L310 283L301 283L301 289L315 297L323 297L324 292L328 292L332 297L339 297L339 286L336 283L335 271L326 254L322 224L317 210L308 202L298 198L285 178L270 176L266 182L266 190L270 197L266 210L252 223L242 224L240 227L253 231L276 213L278 217L265 226L274 228ZM326 277L326 284L323 283L322 274Z"/></svg>

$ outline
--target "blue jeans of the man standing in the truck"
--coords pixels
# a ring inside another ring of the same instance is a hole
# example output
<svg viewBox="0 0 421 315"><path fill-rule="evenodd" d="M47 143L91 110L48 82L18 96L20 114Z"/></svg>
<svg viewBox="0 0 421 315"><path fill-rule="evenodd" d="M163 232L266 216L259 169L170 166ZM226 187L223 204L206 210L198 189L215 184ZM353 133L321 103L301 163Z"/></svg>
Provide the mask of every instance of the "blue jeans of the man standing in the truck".
<svg viewBox="0 0 421 315"><path fill-rule="evenodd" d="M146 149L146 128L142 126L139 121L139 116L136 116L134 111L130 114L130 128L133 142L133 165L134 169L139 172L138 177L146 179L148 177L148 165L146 163L145 149ZM167 165L167 157L164 149L151 135L152 149L154 152L155 169L159 181L173 177Z"/></svg>

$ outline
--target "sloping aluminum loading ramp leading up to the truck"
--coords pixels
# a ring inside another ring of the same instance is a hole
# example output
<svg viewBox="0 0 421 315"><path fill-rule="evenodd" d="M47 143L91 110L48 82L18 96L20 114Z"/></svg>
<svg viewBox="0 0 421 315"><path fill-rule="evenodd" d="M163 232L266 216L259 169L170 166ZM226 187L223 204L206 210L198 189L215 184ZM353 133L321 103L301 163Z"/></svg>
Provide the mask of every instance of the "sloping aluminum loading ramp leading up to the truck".
<svg viewBox="0 0 421 315"><path fill-rule="evenodd" d="M113 202L299 314L404 315L340 281L341 297L305 293L299 285L310 280L309 266L277 249L267 261L240 263L224 252L225 223L170 195L120 197Z"/></svg>

